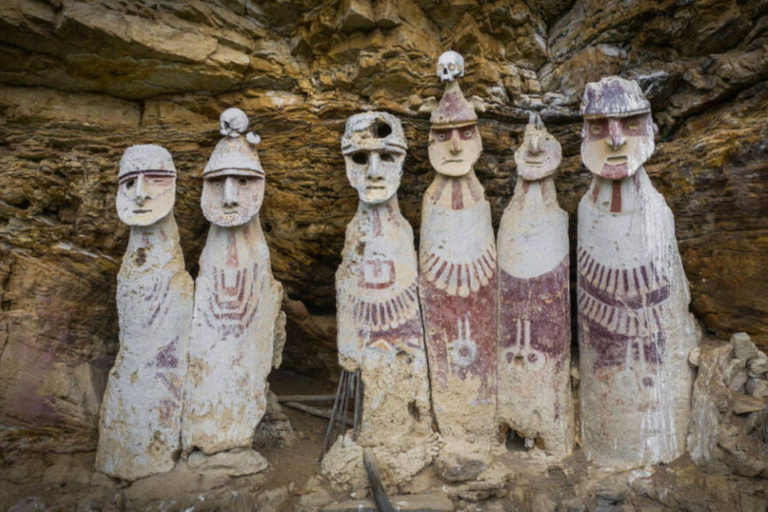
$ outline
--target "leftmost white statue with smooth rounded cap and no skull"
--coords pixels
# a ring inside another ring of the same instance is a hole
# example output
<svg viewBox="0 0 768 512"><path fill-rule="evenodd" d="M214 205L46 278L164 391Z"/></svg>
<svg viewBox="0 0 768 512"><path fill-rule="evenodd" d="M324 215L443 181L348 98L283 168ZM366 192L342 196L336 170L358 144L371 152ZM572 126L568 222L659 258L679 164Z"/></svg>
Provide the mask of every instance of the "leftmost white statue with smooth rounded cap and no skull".
<svg viewBox="0 0 768 512"><path fill-rule="evenodd" d="M124 480L173 469L192 319L192 278L173 216L176 168L152 144L120 161L117 213L131 227L117 276L120 351L101 406L96 468Z"/></svg>

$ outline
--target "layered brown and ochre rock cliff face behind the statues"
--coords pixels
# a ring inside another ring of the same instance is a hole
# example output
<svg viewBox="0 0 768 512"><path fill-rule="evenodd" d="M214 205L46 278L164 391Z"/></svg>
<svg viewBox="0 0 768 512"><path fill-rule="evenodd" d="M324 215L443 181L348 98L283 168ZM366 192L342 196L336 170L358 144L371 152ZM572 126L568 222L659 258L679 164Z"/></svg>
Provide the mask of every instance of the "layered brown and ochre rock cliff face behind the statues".
<svg viewBox="0 0 768 512"><path fill-rule="evenodd" d="M401 207L418 234L432 179L418 107L440 95L434 66L449 48L466 57L465 92L488 104L477 173L496 226L529 112L563 145L557 187L573 224L589 182L584 83L637 79L692 309L717 335L768 345L768 2L12 0L0 4L0 450L94 446L128 236L114 208L120 155L138 143L173 154L194 275L202 168L229 106L263 139L285 363L334 371L333 276L357 204L344 121L373 108L403 120Z"/></svg>

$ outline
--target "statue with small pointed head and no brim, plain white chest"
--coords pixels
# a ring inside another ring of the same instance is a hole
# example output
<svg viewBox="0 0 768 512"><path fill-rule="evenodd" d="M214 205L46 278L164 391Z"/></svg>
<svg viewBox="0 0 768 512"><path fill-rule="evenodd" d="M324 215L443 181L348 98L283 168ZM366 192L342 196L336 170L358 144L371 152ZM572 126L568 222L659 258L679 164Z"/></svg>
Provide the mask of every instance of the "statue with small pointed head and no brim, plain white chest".
<svg viewBox="0 0 768 512"><path fill-rule="evenodd" d="M560 143L532 114L498 234L498 421L557 456L573 446L568 214L553 176L561 158Z"/></svg>

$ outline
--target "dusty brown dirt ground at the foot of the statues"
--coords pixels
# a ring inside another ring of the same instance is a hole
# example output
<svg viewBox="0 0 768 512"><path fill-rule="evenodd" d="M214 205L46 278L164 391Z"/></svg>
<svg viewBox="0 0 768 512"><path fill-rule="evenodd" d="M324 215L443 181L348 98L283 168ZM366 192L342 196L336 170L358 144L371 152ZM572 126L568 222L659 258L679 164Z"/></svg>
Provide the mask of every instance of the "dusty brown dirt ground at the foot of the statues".
<svg viewBox="0 0 768 512"><path fill-rule="evenodd" d="M333 394L330 384L276 372L271 389L278 396ZM322 404L318 404L322 407ZM330 406L330 404L328 404ZM337 501L366 498L334 489L319 476L327 420L284 407L294 438L290 445L259 447L269 469L232 478L195 473L181 462L174 471L127 483L95 472L94 452L5 457L0 467L0 511L66 510L259 510L310 512L341 510ZM690 459L631 471L600 471L577 450L561 462L514 441L478 480L447 485L427 470L418 492L450 498L455 510L475 511L638 511L662 510L768 512L768 481L707 475ZM375 510L360 502L354 510ZM351 509L347 509L351 510ZM440 509L445 510L445 509Z"/></svg>

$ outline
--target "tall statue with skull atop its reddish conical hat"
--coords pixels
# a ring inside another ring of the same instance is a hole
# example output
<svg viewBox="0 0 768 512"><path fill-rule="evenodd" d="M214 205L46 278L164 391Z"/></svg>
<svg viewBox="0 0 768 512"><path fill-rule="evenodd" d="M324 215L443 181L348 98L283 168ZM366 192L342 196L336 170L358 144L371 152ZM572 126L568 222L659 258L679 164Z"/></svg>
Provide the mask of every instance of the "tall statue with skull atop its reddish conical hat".
<svg viewBox="0 0 768 512"><path fill-rule="evenodd" d="M483 149L477 114L457 81L449 79L430 121L437 174L423 201L419 294L445 440L438 465L444 478L465 480L486 467L495 437L496 240L473 169Z"/></svg>

